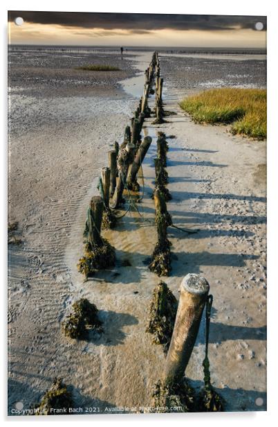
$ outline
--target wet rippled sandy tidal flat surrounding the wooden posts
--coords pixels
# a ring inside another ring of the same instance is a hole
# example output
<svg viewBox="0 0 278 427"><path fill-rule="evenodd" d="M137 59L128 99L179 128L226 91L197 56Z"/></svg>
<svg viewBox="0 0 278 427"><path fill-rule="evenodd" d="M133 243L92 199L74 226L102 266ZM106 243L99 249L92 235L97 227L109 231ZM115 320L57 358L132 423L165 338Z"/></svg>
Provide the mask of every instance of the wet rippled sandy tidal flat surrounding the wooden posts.
<svg viewBox="0 0 278 427"><path fill-rule="evenodd" d="M158 131L175 137L167 139L169 213L178 227L199 229L169 229L172 274L162 279L177 298L188 272L209 281L212 383L225 410L266 410L266 141L197 125L178 105L210 87L266 87L263 55L160 55L165 109L176 114L163 125L144 122L142 133L153 141L142 168L140 213L131 208L103 232L115 247L115 268L85 283L77 272L86 209L98 194L107 152L122 142L137 107L151 54L11 56L9 219L18 221L23 243L8 252L9 415L17 402L24 408L38 402L55 377L64 378L83 413L150 406L165 364L162 347L145 332L159 282L147 268L156 242L151 192ZM75 69L93 62L121 71ZM61 322L80 297L96 304L104 333L76 341L62 335ZM186 371L196 389L203 381L204 327L202 321Z"/></svg>

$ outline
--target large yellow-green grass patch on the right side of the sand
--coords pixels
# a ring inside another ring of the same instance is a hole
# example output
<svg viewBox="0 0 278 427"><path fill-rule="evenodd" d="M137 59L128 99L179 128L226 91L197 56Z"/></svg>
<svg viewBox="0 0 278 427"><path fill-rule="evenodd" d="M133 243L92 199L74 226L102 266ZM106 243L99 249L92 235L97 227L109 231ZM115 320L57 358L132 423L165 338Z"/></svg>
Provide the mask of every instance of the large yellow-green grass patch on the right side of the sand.
<svg viewBox="0 0 278 427"><path fill-rule="evenodd" d="M180 107L196 123L232 123L232 134L266 138L266 89L211 89L185 98Z"/></svg>

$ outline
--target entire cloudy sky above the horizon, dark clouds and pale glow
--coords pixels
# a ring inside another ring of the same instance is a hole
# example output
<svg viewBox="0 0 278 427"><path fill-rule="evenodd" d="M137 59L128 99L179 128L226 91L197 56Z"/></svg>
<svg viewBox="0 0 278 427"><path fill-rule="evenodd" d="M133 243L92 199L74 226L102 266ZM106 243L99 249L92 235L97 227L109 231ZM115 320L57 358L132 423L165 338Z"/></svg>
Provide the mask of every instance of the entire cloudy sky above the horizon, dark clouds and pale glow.
<svg viewBox="0 0 278 427"><path fill-rule="evenodd" d="M8 21L12 44L266 47L266 17L13 10Z"/></svg>

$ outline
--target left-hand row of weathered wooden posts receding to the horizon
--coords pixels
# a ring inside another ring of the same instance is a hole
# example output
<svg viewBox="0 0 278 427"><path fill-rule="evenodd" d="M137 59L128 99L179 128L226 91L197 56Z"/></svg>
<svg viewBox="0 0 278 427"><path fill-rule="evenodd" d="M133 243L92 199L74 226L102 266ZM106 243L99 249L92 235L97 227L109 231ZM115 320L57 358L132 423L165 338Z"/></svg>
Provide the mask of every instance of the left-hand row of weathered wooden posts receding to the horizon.
<svg viewBox="0 0 278 427"><path fill-rule="evenodd" d="M102 168L98 184L100 196L91 198L88 209L84 237L86 245L84 256L77 267L86 277L95 270L108 268L115 264L115 250L101 236L102 228L113 228L117 220L115 210L124 204L124 190L132 202L130 190L138 191L138 171L151 144L151 137L141 139L142 125L149 117L151 110L148 106L148 97L154 85L155 76L158 78L158 53L154 52L149 67L145 71L145 85L143 95L131 125L124 130L124 140L119 145L115 142L114 149L108 153L109 166ZM158 80L157 99L162 100L162 84Z"/></svg>

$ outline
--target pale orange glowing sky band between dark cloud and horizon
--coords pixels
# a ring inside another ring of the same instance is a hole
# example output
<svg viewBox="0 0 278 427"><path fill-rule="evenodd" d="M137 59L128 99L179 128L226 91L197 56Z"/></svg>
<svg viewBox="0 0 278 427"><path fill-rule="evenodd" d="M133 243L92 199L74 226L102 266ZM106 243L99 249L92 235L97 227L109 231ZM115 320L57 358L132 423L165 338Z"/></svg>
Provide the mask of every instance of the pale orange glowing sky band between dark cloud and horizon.
<svg viewBox="0 0 278 427"><path fill-rule="evenodd" d="M266 31L233 30L130 30L81 28L57 24L22 26L9 23L10 44L102 45L102 46L192 46L192 47L266 47Z"/></svg>

